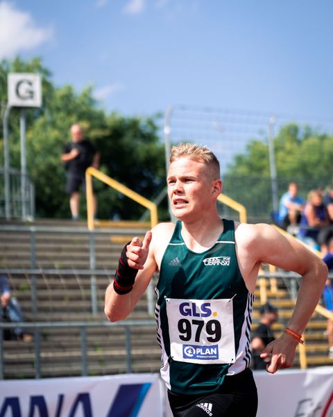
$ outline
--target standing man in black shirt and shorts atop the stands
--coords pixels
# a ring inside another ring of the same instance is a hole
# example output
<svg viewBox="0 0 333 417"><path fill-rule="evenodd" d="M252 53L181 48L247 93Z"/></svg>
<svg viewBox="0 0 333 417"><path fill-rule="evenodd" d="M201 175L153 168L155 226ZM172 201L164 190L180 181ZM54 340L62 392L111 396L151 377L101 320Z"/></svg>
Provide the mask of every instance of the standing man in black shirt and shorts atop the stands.
<svg viewBox="0 0 333 417"><path fill-rule="evenodd" d="M99 167L100 154L89 140L83 138L83 129L79 124L71 126L71 142L65 147L61 161L67 171L66 193L70 195L71 218L78 220L80 206L80 188L85 189L85 170L87 167ZM96 199L94 197L94 212Z"/></svg>

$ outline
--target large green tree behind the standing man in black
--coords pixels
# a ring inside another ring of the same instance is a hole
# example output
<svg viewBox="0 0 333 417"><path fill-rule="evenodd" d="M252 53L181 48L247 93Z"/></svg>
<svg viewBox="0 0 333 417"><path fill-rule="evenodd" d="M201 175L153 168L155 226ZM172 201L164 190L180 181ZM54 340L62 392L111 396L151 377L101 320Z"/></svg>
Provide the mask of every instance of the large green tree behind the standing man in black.
<svg viewBox="0 0 333 417"><path fill-rule="evenodd" d="M36 211L40 217L68 218L65 169L60 155L69 142L71 124L80 123L85 137L101 152L101 170L129 188L153 199L164 186L164 147L158 136L159 115L123 117L106 114L92 95L92 87L76 92L71 85L56 87L40 58L0 63L1 107L6 105L8 72L42 74L42 108L26 109L28 173L35 184ZM2 117L1 117L2 123ZM2 133L2 125L1 125ZM0 135L1 135L0 133ZM0 165L3 140L0 136ZM10 165L19 168L19 109L10 113ZM138 218L143 209L96 182L99 217ZM81 204L83 215L84 205Z"/></svg>

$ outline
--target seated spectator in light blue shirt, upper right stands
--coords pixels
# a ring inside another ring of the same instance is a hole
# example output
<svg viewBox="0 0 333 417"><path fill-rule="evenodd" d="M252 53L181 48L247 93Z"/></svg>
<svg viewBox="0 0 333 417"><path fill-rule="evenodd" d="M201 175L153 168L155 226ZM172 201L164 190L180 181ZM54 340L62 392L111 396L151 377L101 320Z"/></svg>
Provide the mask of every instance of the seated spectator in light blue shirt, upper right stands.
<svg viewBox="0 0 333 417"><path fill-rule="evenodd" d="M283 229L297 226L302 213L303 199L298 195L298 183L289 183L287 193L280 199L278 222Z"/></svg>

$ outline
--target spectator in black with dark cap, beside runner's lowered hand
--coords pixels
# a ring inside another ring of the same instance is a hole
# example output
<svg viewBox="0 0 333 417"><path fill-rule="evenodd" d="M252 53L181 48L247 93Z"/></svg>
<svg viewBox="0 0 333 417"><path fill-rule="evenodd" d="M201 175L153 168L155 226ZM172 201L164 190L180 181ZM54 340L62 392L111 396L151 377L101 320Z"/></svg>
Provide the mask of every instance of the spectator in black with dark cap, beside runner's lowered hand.
<svg viewBox="0 0 333 417"><path fill-rule="evenodd" d="M278 321L278 309L270 302L262 305L259 309L260 324L253 332L253 338L251 341L252 350L252 364L254 370L265 369L269 359L262 359L260 354L264 348L275 341L271 326Z"/></svg>

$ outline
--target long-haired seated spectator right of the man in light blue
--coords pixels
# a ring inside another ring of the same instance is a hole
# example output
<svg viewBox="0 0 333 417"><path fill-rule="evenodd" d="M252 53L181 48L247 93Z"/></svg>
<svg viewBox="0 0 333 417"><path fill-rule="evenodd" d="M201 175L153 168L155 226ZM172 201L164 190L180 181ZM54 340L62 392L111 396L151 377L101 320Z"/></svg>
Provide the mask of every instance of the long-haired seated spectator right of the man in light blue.
<svg viewBox="0 0 333 417"><path fill-rule="evenodd" d="M311 190L307 197L307 203L302 211L298 237L305 243L320 250L320 245L324 247L324 243L318 242L318 234L320 231L329 228L330 216L323 203L323 194L320 190Z"/></svg>

